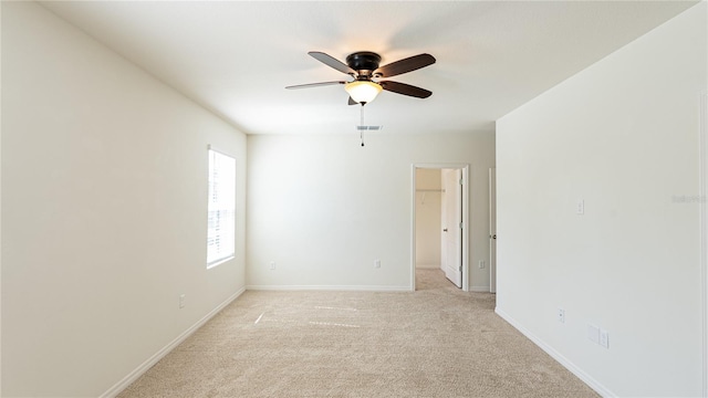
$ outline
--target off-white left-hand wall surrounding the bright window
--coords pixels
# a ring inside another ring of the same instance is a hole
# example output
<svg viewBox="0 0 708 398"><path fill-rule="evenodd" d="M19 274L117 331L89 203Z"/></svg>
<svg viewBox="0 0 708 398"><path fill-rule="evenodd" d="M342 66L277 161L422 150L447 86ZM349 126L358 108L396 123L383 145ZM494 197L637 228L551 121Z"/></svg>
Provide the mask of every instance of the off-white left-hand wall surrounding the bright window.
<svg viewBox="0 0 708 398"><path fill-rule="evenodd" d="M102 395L244 286L243 134L29 2L2 2L2 116L3 396ZM208 144L240 181L209 271Z"/></svg>

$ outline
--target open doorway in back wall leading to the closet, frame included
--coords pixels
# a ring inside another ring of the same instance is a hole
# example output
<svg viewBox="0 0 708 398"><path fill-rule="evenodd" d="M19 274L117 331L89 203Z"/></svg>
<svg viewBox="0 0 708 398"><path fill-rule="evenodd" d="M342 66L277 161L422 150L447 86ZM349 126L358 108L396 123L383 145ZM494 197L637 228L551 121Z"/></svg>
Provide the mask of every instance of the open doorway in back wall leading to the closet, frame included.
<svg viewBox="0 0 708 398"><path fill-rule="evenodd" d="M416 164L412 170L410 290L416 269L439 269L469 291L469 165Z"/></svg>

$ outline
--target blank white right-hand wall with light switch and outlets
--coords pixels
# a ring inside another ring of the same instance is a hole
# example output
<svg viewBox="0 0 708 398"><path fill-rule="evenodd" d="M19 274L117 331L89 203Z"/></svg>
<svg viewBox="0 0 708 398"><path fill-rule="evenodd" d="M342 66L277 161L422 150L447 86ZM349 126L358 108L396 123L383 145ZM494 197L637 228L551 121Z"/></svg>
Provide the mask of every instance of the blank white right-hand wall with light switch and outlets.
<svg viewBox="0 0 708 398"><path fill-rule="evenodd" d="M497 310L606 395L702 392L706 25L702 2L497 123Z"/></svg>

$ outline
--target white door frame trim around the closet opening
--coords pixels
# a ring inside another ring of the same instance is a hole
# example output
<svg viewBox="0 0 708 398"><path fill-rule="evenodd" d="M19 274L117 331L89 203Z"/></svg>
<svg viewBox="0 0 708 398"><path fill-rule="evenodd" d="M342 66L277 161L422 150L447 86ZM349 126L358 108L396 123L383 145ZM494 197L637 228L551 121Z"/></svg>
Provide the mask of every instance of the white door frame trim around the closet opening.
<svg viewBox="0 0 708 398"><path fill-rule="evenodd" d="M416 170L458 169L462 174L462 292L469 292L469 164L410 165L410 286L416 290Z"/></svg>

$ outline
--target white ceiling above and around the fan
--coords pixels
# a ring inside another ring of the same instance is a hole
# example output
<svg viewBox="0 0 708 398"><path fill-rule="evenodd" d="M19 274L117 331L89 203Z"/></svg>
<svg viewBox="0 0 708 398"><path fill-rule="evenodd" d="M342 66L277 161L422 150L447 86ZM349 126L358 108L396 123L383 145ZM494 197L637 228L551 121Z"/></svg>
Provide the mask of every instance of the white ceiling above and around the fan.
<svg viewBox="0 0 708 398"><path fill-rule="evenodd" d="M374 51L382 65L419 53L437 63L391 80L433 92L383 92L365 124L385 133L492 130L493 121L696 1L48 1L44 7L248 134L354 133L343 86Z"/></svg>

